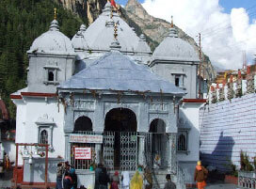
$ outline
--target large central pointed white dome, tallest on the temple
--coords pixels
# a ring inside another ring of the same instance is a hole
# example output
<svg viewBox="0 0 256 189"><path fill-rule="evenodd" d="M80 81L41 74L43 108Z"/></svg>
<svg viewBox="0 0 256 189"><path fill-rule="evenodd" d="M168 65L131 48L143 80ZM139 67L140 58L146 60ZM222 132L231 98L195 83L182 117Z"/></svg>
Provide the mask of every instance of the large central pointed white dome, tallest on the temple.
<svg viewBox="0 0 256 189"><path fill-rule="evenodd" d="M109 51L109 45L113 41L114 24L118 23L118 38L122 52L135 52L139 38L135 31L126 24L118 13L113 12L111 18L111 5L106 3L103 13L88 26L84 36L88 42L88 48L92 51Z"/></svg>

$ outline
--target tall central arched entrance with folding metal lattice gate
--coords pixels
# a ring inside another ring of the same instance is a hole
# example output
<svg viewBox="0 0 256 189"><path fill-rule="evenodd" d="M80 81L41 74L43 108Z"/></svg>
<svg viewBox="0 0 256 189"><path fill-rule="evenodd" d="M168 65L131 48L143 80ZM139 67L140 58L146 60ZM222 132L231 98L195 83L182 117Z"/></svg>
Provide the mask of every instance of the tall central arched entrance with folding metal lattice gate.
<svg viewBox="0 0 256 189"><path fill-rule="evenodd" d="M106 114L104 160L109 168L136 169L136 127L136 114L130 109L114 108Z"/></svg>

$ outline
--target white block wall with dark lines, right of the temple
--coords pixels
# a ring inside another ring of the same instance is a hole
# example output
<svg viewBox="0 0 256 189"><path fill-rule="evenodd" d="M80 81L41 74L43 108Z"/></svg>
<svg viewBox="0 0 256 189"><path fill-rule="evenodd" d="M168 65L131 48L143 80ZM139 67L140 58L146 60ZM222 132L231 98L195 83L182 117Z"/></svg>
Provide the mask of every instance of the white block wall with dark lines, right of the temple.
<svg viewBox="0 0 256 189"><path fill-rule="evenodd" d="M256 155L256 94L200 108L200 159L221 171L240 165L240 151Z"/></svg>

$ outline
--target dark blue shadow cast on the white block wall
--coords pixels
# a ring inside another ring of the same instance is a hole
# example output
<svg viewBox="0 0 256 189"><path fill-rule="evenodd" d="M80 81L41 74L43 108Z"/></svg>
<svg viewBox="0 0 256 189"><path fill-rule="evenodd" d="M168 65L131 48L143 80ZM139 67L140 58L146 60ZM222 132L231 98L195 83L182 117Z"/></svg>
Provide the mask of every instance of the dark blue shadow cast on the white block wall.
<svg viewBox="0 0 256 189"><path fill-rule="evenodd" d="M211 148L210 144L213 142L211 138L207 138L209 142L208 148ZM204 141L205 142L205 141ZM202 164L211 168L216 168L220 172L232 171L232 148L234 140L232 136L224 136L223 131L218 137L215 150L211 154L200 152L200 160Z"/></svg>

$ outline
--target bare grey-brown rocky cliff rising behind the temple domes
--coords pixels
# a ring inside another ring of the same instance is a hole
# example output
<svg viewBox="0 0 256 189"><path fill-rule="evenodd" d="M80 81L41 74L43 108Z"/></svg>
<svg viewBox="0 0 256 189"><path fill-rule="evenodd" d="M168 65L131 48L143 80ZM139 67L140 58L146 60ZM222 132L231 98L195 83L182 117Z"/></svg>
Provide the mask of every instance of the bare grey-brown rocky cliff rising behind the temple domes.
<svg viewBox="0 0 256 189"><path fill-rule="evenodd" d="M55 0L62 4L65 8L70 9L74 14L79 15L86 21L86 24L92 23L102 12L107 0ZM170 23L165 20L152 17L148 12L137 2L137 0L129 0L125 8L120 8L121 17L131 26L135 28L136 34L139 36L143 33L149 42L152 51L157 45L167 37ZM181 39L188 41L197 52L199 46L194 39L184 33L182 29L174 25L178 30L178 36ZM209 57L203 55L203 69L201 73L204 78L213 79L216 77Z"/></svg>

